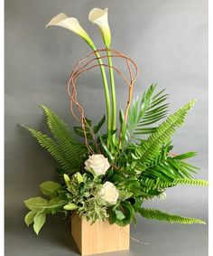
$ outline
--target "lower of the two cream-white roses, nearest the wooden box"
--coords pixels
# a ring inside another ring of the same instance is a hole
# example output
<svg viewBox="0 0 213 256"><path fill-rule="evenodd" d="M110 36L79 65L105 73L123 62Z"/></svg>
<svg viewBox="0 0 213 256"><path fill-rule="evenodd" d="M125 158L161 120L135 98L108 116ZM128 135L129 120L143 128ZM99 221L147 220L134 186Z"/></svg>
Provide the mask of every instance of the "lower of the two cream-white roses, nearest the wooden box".
<svg viewBox="0 0 213 256"><path fill-rule="evenodd" d="M106 181L106 183L102 185L101 189L98 191L97 195L109 204L116 204L119 194L116 186L111 182Z"/></svg>

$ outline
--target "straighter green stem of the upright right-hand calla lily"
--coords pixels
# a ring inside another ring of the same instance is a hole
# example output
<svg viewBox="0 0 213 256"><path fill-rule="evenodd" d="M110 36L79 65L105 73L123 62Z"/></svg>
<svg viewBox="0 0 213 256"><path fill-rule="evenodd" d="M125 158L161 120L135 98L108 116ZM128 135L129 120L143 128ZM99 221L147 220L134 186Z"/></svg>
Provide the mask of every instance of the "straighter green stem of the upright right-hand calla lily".
<svg viewBox="0 0 213 256"><path fill-rule="evenodd" d="M107 51L108 55L108 65L109 65L109 77L111 82L111 93L112 93L112 130L116 130L116 87L114 81L114 71L113 71L113 62L110 52ZM115 143L116 134L112 135L112 141Z"/></svg>

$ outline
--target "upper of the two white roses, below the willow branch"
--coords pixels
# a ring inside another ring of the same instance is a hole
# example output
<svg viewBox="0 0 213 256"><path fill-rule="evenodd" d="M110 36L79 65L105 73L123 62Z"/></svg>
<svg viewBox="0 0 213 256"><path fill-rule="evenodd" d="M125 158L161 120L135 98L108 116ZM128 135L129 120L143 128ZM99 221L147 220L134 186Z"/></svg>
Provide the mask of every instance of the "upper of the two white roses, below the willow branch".
<svg viewBox="0 0 213 256"><path fill-rule="evenodd" d="M86 170L91 171L92 169L96 175L105 175L110 167L108 159L100 154L88 156L85 166Z"/></svg>

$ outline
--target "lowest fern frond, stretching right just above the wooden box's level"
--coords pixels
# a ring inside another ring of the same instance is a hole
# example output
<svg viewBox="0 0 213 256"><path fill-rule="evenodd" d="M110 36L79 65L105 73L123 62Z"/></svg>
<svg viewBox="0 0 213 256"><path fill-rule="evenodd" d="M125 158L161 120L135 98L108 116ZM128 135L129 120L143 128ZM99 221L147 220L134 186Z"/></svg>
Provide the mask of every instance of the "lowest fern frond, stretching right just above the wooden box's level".
<svg viewBox="0 0 213 256"><path fill-rule="evenodd" d="M140 210L140 214L146 219L153 219L153 220L168 222L168 223L206 224L205 222L203 222L199 219L182 217L182 216L177 215L177 214L164 213L164 212L161 212L157 209L142 208Z"/></svg>

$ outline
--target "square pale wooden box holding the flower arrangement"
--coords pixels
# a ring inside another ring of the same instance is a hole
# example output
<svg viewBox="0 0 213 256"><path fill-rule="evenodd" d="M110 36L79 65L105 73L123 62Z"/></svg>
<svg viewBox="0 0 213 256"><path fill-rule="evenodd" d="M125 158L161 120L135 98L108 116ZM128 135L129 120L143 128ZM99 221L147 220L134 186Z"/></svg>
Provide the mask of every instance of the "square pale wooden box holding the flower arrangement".
<svg viewBox="0 0 213 256"><path fill-rule="evenodd" d="M71 217L71 234L81 255L129 250L130 225L111 225L108 220L91 225L75 214Z"/></svg>

